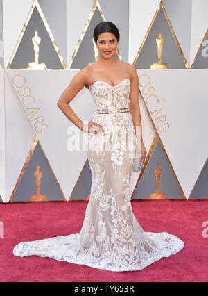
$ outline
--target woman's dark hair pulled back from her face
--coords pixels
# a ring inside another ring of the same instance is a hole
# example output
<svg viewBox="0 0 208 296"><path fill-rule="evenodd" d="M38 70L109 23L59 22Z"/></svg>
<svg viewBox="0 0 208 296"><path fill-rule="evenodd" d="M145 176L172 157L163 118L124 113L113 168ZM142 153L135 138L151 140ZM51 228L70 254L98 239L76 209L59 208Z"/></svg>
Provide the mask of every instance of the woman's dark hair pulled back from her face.
<svg viewBox="0 0 208 296"><path fill-rule="evenodd" d="M116 36L117 41L119 42L120 33L116 25L112 22L101 22L97 24L94 28L93 38L96 43L98 41L98 35L104 32L110 32L114 34Z"/></svg>

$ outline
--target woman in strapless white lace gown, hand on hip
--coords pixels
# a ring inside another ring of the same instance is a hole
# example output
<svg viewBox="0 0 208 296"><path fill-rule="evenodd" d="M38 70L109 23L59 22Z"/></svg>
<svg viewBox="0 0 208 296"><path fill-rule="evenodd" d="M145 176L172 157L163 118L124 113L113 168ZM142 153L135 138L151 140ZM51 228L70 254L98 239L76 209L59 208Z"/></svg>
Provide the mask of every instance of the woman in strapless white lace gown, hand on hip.
<svg viewBox="0 0 208 296"><path fill-rule="evenodd" d="M15 256L42 256L116 272L142 270L179 252L184 242L168 233L150 233L137 222L130 203L132 161L146 149L141 136L139 84L135 67L116 60L119 31L112 22L94 29L99 57L80 70L58 101L62 112L87 133L92 187L80 233L21 242ZM69 102L89 88L97 111L89 124Z"/></svg>

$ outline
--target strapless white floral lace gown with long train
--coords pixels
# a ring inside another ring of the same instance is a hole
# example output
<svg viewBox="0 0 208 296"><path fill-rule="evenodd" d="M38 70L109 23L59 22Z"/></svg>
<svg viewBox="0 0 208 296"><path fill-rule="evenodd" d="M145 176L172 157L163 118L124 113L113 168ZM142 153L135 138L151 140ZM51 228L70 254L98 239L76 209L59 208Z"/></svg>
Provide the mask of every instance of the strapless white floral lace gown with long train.
<svg viewBox="0 0 208 296"><path fill-rule="evenodd" d="M98 109L129 107L129 79L115 86L96 81L89 91ZM184 242L166 232L144 232L132 212L129 181L137 138L131 113L95 113L92 120L104 131L87 134L92 187L80 233L21 242L13 254L115 272L142 270L179 252Z"/></svg>

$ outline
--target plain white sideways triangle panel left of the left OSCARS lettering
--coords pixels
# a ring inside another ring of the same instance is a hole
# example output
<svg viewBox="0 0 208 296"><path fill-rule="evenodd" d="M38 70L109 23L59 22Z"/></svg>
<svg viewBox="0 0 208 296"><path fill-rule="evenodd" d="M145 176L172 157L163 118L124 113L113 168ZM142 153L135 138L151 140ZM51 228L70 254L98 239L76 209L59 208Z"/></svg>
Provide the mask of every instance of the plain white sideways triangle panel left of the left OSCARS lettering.
<svg viewBox="0 0 208 296"><path fill-rule="evenodd" d="M28 122L24 109L8 78L12 74L6 70L5 106L6 106L6 202L9 202L19 174L35 140L35 133Z"/></svg>

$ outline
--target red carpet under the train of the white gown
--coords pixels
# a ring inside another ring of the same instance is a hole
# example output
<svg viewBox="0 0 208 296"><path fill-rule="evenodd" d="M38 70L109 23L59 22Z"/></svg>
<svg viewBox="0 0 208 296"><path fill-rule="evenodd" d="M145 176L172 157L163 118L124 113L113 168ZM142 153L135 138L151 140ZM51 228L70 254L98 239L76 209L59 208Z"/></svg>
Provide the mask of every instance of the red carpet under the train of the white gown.
<svg viewBox="0 0 208 296"><path fill-rule="evenodd" d="M87 202L0 204L5 228L0 238L0 281L208 281L208 238L202 237L207 201L132 201L144 231L166 231L185 243L179 253L141 271L110 272L50 258L13 256L13 247L21 241L80 232L86 206Z"/></svg>

